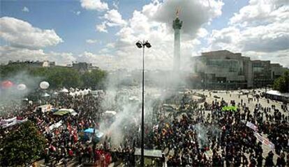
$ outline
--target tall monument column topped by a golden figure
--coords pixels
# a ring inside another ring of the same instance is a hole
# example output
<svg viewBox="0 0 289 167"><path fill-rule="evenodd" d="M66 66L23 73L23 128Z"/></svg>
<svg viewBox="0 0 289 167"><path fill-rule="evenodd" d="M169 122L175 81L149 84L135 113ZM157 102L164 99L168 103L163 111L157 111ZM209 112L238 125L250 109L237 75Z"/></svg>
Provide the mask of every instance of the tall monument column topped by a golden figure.
<svg viewBox="0 0 289 167"><path fill-rule="evenodd" d="M176 19L172 22L172 28L175 31L175 45L174 45L174 71L179 71L179 63L180 63L180 30L183 22L179 19L179 9L177 10L177 17Z"/></svg>

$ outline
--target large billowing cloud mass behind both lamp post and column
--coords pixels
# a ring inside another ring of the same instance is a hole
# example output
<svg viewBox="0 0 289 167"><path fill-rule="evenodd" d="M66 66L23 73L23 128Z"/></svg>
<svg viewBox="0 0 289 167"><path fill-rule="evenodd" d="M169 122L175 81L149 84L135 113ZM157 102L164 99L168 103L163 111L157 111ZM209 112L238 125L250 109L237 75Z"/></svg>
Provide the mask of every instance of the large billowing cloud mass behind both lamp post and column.
<svg viewBox="0 0 289 167"><path fill-rule="evenodd" d="M116 33L118 39L110 43L115 59L121 67L140 68L141 50L135 47L138 40L149 40L152 47L145 50L146 67L149 69L172 69L174 50L174 33L172 21L175 19L175 9L181 8L181 62L185 67L188 59L199 47L200 40L208 34L202 28L214 17L221 15L221 1L153 1L142 10L135 10L127 24ZM105 19L109 22L108 19ZM108 46L107 46L108 47ZM122 62L122 63L121 63Z"/></svg>

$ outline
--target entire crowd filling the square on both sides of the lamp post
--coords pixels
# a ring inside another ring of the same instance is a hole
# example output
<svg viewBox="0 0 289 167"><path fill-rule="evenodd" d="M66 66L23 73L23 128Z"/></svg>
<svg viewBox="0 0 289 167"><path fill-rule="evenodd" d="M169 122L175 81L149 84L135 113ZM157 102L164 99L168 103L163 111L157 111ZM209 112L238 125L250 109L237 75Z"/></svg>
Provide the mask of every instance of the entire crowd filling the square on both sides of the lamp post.
<svg viewBox="0 0 289 167"><path fill-rule="evenodd" d="M167 166L289 166L287 106L282 105L282 111L279 111L269 101L267 106L262 106L261 97L247 98L248 103L255 104L253 110L240 96L236 101L226 102L222 98L205 104L183 98L179 104L186 107L179 107L175 112L166 112L159 105L154 109L157 118L145 122L144 148L161 150L165 159L158 161ZM59 94L42 101L56 109L74 109L76 116L56 117L51 112L43 113L36 109L43 102L36 101L1 106L1 110L6 111L1 119L20 116L35 122L46 139L43 158L49 166L60 163L67 166L68 161L135 166L138 161L134 156L135 147L140 147L140 124L120 127L124 138L118 146L112 146L110 136L104 136L99 143L82 140L84 129L98 129L99 122L103 121L102 100L101 96L91 94L75 97ZM229 105L237 106L237 111L222 111L223 106ZM61 126L49 128L59 121ZM246 122L258 129L251 129ZM12 129L1 129L1 138ZM274 147L260 142L256 133L267 138Z"/></svg>

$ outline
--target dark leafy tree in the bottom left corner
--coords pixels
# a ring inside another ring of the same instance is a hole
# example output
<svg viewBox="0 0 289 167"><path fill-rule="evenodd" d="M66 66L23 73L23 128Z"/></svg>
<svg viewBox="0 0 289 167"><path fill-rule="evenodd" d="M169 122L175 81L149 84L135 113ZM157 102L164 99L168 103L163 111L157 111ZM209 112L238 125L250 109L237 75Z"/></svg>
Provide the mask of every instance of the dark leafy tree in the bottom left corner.
<svg viewBox="0 0 289 167"><path fill-rule="evenodd" d="M44 152L45 137L33 122L27 121L8 132L0 141L0 148L0 166L23 166Z"/></svg>

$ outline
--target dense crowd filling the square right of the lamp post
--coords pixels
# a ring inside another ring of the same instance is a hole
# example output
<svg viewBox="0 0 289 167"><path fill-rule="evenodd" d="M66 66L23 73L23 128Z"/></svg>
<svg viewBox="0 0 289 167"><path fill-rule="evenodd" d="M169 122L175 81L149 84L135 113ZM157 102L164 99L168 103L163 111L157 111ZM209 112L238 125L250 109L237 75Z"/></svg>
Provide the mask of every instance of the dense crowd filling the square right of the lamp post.
<svg viewBox="0 0 289 167"><path fill-rule="evenodd" d="M199 106L193 112L183 111L182 116L163 116L154 132L154 144L168 150L168 166L289 166L287 107L279 111L274 105L262 106L259 99L254 102L255 108L250 111L243 100L215 99L207 104L208 114ZM228 105L238 110L222 111ZM257 132L246 122L256 125ZM255 133L274 143L266 156ZM276 161L274 156L278 157Z"/></svg>

